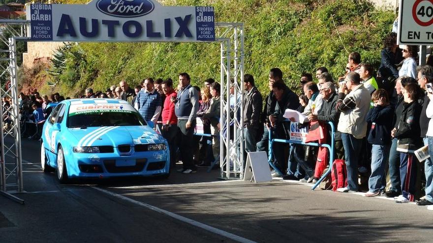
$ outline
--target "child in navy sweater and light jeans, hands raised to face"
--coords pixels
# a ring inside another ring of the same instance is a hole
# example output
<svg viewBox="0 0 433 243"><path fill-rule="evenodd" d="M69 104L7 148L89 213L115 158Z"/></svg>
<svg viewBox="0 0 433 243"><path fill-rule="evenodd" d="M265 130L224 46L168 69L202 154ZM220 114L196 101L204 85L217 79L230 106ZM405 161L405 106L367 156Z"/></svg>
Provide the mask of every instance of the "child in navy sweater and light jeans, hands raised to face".
<svg viewBox="0 0 433 243"><path fill-rule="evenodd" d="M378 89L371 95L374 107L367 114L367 122L371 123L368 136L371 150L371 175L369 179L369 191L364 196L377 196L385 189L384 173L391 147L391 130L394 108L390 105L386 90Z"/></svg>

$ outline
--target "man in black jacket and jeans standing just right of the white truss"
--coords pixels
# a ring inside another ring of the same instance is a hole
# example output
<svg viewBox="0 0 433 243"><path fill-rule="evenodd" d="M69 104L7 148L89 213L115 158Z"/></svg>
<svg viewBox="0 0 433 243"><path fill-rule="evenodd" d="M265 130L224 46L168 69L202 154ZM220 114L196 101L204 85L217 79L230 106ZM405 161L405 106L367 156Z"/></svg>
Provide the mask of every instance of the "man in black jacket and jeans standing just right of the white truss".
<svg viewBox="0 0 433 243"><path fill-rule="evenodd" d="M254 77L244 75L244 151L255 152L257 149L257 130L260 126L260 112L262 111L263 98L254 85ZM247 156L244 157L244 162Z"/></svg>

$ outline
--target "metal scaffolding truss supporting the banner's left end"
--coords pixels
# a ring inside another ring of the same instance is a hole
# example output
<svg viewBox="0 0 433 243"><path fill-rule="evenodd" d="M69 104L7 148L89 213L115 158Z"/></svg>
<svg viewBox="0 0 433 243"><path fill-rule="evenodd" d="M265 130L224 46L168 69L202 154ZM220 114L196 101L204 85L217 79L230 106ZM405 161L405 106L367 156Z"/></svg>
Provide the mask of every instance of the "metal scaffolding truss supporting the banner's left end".
<svg viewBox="0 0 433 243"><path fill-rule="evenodd" d="M17 40L27 40L26 20L0 20L0 41L7 49L0 50L6 55L0 58L0 192L12 199L20 200L8 192L23 192L23 171L21 158L20 108L17 80ZM6 37L9 36L9 37ZM3 98L11 99L11 104L3 103ZM3 118L8 118L3 120ZM5 156L9 158L8 162Z"/></svg>

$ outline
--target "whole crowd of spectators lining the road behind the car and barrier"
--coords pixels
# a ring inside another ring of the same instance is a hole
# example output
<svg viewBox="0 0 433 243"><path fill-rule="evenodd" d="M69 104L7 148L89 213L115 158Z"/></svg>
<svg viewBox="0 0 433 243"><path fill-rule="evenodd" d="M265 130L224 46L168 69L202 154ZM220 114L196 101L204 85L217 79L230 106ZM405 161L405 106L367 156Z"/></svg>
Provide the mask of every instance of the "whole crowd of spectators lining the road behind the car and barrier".
<svg viewBox="0 0 433 243"><path fill-rule="evenodd" d="M261 94L254 77L246 74L243 100L234 96L234 87L229 94L232 107L243 104L244 151L238 152L272 153L268 156L273 157L273 176L317 182L330 167L327 149L294 143L274 143L272 151L268 148L270 134L289 139L295 119L283 115L286 109L297 110L306 117L297 124L299 128L309 127L311 131L319 127L325 131L318 143L330 144L334 136L334 158L344 160L347 170L347 186L338 188L338 192L359 191L363 186L359 178L367 175L366 197L382 195L394 197L397 203L433 205L433 58L427 59L427 65L418 66L418 47L396 43L395 33L385 38L376 75L372 65L363 63L361 55L354 52L348 55L346 72L338 80L326 67L316 69L314 81L312 74L304 73L299 83L303 92L299 95L283 81L279 68L269 72L267 95ZM179 84L173 84L171 79L146 78L132 88L123 80L105 92L87 88L79 98L130 102L167 139L171 166L180 160L183 167L179 172L195 173L197 166L219 160L219 133L225 132L220 131L219 124L220 84L210 78L204 81L203 88L191 86L187 73L180 73ZM54 105L64 99L59 93L50 97L41 97L37 91L20 93L22 124L35 124L37 134ZM10 103L3 98L3 110L7 111ZM194 136L196 118L203 122L202 136ZM329 123L336 128L334 133ZM3 124L4 129L11 126L7 112ZM34 137L34 131L29 130L24 125L23 135ZM423 167L414 151L426 145L431 158L423 161Z"/></svg>

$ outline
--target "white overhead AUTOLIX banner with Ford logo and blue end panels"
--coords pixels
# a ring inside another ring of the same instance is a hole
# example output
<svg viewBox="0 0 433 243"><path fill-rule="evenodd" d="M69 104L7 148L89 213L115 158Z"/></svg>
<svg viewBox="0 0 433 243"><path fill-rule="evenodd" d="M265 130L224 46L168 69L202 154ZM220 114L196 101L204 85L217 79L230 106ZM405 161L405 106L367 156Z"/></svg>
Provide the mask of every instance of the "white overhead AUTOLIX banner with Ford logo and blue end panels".
<svg viewBox="0 0 433 243"><path fill-rule="evenodd" d="M214 7L162 6L155 0L30 4L31 41L215 41Z"/></svg>

